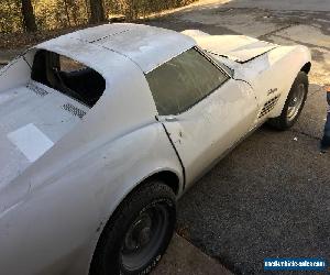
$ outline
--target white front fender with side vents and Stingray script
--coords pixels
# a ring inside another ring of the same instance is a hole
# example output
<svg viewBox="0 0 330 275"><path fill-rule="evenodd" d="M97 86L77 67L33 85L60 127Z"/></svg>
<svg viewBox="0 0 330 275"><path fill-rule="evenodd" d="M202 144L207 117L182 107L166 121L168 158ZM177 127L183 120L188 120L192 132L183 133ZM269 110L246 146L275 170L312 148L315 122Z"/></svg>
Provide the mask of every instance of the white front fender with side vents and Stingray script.
<svg viewBox="0 0 330 275"><path fill-rule="evenodd" d="M282 113L296 76L310 61L306 46L280 46L242 64L237 77L252 85L261 109L268 100L279 96L277 105L267 116L275 118Z"/></svg>

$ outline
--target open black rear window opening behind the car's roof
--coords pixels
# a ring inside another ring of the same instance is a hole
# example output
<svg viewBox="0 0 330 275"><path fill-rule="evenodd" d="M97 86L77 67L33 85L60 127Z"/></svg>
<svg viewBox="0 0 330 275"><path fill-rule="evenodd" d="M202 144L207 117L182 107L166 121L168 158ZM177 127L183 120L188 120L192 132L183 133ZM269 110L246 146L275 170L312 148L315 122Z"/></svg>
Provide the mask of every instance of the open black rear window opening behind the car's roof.
<svg viewBox="0 0 330 275"><path fill-rule="evenodd" d="M106 89L105 78L92 68L44 50L34 56L31 78L89 107Z"/></svg>

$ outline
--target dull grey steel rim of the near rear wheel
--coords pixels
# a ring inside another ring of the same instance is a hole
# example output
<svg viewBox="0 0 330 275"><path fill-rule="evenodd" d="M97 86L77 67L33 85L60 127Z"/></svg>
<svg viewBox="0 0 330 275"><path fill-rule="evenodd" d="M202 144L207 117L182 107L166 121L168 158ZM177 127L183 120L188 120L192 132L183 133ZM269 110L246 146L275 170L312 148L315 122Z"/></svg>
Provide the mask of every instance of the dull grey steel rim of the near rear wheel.
<svg viewBox="0 0 330 275"><path fill-rule="evenodd" d="M164 204L153 205L140 212L128 232L121 249L121 263L128 271L141 270L155 256L169 224Z"/></svg>

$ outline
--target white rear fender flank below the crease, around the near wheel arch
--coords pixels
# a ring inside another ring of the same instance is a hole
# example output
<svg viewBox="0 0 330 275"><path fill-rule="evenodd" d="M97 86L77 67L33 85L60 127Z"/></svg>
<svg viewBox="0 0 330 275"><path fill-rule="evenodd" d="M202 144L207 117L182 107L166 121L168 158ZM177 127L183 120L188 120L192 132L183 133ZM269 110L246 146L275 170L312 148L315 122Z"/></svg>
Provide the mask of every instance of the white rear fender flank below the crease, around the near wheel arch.
<svg viewBox="0 0 330 275"><path fill-rule="evenodd" d="M183 178L164 129L155 122L58 170L56 180L46 179L1 213L1 272L87 274L86 260L117 206L144 178L163 169Z"/></svg>

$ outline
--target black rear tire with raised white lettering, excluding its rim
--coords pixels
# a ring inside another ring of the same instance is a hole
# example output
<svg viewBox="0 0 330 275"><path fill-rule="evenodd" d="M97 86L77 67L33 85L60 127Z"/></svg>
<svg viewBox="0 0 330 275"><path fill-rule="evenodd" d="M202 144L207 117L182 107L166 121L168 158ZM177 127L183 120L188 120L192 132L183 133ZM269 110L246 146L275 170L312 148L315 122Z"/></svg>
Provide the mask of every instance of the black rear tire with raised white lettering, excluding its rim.
<svg viewBox="0 0 330 275"><path fill-rule="evenodd" d="M154 256L140 270L128 271L121 263L120 252L128 230L135 219L146 209L162 204L166 207L168 226L164 239ZM161 261L176 224L176 198L172 189L162 183L145 185L142 191L129 195L107 223L96 251L96 261L91 265L90 275L143 275L148 274Z"/></svg>

